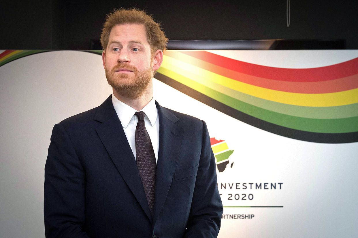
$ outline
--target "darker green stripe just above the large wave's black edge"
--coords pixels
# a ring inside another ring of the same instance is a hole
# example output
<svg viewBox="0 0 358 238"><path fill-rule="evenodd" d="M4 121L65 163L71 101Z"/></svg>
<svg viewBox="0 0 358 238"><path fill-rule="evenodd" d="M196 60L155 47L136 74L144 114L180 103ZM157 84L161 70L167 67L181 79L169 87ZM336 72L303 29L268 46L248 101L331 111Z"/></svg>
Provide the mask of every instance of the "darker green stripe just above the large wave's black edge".
<svg viewBox="0 0 358 238"><path fill-rule="evenodd" d="M217 100L238 111L276 125L301 131L319 133L347 133L358 131L358 116L338 119L315 119L285 115L284 113L277 113L242 102L168 69L159 68L158 72L167 76L173 75L174 78L171 78L174 80L183 83L184 85L187 85L194 90L213 98L214 100Z"/></svg>

